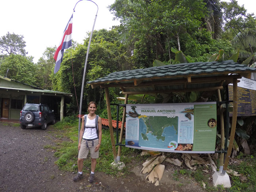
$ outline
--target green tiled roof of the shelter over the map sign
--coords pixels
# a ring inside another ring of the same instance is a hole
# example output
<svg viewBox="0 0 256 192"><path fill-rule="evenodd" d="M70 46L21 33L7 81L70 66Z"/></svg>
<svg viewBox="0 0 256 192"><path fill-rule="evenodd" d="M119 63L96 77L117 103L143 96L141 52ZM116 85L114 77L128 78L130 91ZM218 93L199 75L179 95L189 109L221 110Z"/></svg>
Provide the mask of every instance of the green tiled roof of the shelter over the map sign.
<svg viewBox="0 0 256 192"><path fill-rule="evenodd" d="M111 73L103 78L87 82L87 84L101 84L109 82L120 82L135 79L166 78L174 76L197 76L200 74L229 74L229 73L256 72L256 68L247 67L234 62L212 61L198 63L181 63L176 65L164 65L161 67L150 67Z"/></svg>

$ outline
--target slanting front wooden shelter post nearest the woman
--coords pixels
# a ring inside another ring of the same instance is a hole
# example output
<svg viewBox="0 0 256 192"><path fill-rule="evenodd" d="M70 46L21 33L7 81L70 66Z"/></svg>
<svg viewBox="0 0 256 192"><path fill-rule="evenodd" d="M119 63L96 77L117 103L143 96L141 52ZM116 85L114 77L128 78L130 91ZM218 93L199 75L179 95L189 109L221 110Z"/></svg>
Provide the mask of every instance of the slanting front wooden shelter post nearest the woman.
<svg viewBox="0 0 256 192"><path fill-rule="evenodd" d="M110 109L109 88L105 88L105 94L106 94L106 104L107 104L108 119L109 119L109 132L110 132L112 150L113 150L113 155L114 155L114 162L118 163L117 157L116 157L116 145L115 145L115 141L114 141L112 116L111 116L111 109Z"/></svg>

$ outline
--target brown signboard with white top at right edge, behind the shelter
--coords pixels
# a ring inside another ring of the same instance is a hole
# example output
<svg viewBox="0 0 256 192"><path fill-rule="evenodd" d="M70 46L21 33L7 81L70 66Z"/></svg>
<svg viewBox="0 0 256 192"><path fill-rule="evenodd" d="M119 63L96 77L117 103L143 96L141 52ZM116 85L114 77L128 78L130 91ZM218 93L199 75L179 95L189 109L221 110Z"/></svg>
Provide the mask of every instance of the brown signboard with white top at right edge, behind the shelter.
<svg viewBox="0 0 256 192"><path fill-rule="evenodd" d="M256 115L256 81L252 79L242 78L237 84L238 92L238 108L237 116L253 116ZM233 84L228 85L229 100L233 100ZM230 112L232 117L233 113Z"/></svg>

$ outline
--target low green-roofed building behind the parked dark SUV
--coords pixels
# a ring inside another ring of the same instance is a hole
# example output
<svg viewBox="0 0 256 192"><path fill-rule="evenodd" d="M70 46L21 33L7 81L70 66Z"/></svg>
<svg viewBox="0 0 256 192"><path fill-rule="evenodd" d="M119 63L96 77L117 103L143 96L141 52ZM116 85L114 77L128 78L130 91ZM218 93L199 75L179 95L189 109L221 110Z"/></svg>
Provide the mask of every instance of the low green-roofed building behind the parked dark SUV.
<svg viewBox="0 0 256 192"><path fill-rule="evenodd" d="M19 119L25 103L44 103L54 110L56 118L63 119L65 104L73 94L50 91L0 76L0 117Z"/></svg>

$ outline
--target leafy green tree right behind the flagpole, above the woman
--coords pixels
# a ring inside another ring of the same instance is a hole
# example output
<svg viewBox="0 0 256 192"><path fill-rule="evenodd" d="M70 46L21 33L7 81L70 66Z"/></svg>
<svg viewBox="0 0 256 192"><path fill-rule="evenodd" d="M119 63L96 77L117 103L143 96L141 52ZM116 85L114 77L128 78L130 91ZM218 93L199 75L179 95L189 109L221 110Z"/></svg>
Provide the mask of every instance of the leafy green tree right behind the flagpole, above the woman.
<svg viewBox="0 0 256 192"><path fill-rule="evenodd" d="M90 34L88 34L89 36ZM89 38L84 40L84 44L74 45L64 53L60 70L51 75L53 90L73 93L80 100L80 90L82 89L82 79L84 71L84 61ZM118 38L118 27L108 31L101 29L94 31L89 57L87 61L85 83L108 75L110 72L123 70L121 64L125 61L125 48ZM74 73L74 78L73 78ZM74 86L75 85L75 86ZM112 97L115 97L114 91ZM99 107L105 106L104 90L100 87L92 89L89 85L84 86L83 111L86 112L86 103L96 101ZM72 98L70 113L78 112L76 98Z"/></svg>

